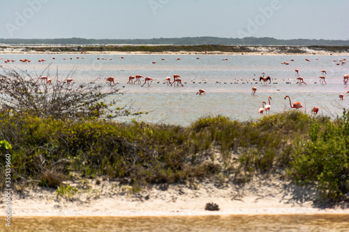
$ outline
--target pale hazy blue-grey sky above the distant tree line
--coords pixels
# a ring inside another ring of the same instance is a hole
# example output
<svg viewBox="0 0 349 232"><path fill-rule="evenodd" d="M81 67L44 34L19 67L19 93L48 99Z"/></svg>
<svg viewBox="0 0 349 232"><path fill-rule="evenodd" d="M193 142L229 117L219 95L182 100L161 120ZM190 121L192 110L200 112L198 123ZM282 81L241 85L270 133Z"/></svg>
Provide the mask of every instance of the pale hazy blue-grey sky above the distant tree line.
<svg viewBox="0 0 349 232"><path fill-rule="evenodd" d="M349 0L0 0L0 38L349 39Z"/></svg>

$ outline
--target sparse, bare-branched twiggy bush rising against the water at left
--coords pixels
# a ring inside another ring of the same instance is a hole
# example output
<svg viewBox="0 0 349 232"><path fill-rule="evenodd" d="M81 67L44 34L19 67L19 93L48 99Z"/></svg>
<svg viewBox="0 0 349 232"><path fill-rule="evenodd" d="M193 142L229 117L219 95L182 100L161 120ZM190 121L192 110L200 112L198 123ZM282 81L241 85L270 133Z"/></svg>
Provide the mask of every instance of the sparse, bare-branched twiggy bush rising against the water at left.
<svg viewBox="0 0 349 232"><path fill-rule="evenodd" d="M66 80L71 79L73 72L65 79L59 79L58 71L49 84L40 79L43 73L34 76L24 70L3 68L0 75L1 111L27 113L40 118L75 119L115 118L131 114L126 106L110 109L117 102L117 95L121 94L119 88L112 86L103 91L104 85L94 82L67 84ZM50 77L50 73L47 76ZM112 99L105 102L106 98Z"/></svg>

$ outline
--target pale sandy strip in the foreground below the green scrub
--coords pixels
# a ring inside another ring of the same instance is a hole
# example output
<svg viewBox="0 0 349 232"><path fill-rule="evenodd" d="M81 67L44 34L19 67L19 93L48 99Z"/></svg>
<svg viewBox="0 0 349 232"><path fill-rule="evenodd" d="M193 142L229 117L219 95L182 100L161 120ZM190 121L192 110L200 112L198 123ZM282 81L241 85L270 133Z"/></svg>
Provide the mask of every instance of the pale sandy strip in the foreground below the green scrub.
<svg viewBox="0 0 349 232"><path fill-rule="evenodd" d="M102 179L68 184L76 190L74 194L60 196L41 187L26 187L14 194L13 217L349 214L348 204L325 207L316 203L318 193L310 185L299 187L273 177L255 177L246 185L154 185L137 193L130 186ZM5 199L3 194L1 199ZM218 204L220 210L205 210L209 202ZM5 212L4 204L0 208Z"/></svg>

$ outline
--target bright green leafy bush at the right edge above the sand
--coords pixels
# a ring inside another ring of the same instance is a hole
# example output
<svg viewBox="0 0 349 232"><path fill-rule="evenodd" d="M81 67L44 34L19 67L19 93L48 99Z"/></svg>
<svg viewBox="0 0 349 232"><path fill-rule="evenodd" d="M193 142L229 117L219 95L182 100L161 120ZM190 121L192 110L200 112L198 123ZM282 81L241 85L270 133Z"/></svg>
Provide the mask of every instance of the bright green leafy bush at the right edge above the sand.
<svg viewBox="0 0 349 232"><path fill-rule="evenodd" d="M309 137L295 150L292 176L317 182L322 198L338 199L349 192L349 112L334 122L311 123Z"/></svg>

